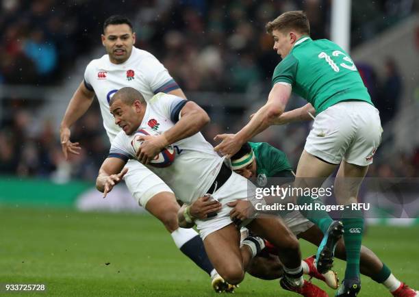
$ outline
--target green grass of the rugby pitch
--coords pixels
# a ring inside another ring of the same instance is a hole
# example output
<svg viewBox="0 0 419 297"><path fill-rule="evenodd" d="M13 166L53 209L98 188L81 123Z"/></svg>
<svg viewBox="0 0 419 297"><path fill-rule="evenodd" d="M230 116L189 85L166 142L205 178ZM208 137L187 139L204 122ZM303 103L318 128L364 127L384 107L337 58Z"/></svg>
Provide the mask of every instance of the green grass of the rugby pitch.
<svg viewBox="0 0 419 297"><path fill-rule="evenodd" d="M396 277L419 288L418 235L418 227L370 227L364 244ZM301 248L303 256L316 250L303 241ZM344 262L335 268L342 278ZM44 296L219 296L155 218L64 209L0 208L0 283L45 283ZM40 296L23 294L31 295ZM235 296L296 294L248 275ZM359 296L390 294L363 277Z"/></svg>

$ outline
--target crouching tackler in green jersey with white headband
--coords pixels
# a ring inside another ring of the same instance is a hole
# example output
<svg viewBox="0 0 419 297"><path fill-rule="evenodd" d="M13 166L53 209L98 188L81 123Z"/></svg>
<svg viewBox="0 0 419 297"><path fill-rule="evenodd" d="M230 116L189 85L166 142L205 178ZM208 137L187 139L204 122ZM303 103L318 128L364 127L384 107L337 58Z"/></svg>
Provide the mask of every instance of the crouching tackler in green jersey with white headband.
<svg viewBox="0 0 419 297"><path fill-rule="evenodd" d="M288 183L294 179L294 172L285 153L266 142L246 142L238 153L231 157L230 161L231 169L239 175L251 179L251 181L260 187L266 186L270 178L281 178L275 179L274 181L274 183L279 185ZM285 211L283 211L281 215L285 224L287 224L296 237L319 246L323 233L316 225L301 215L299 216L298 211L297 213L290 214L285 214ZM279 279L283 275L283 270L281 261L276 256L277 251L268 242L266 242L265 246L265 249L251 260L249 266L246 268L246 272L259 279ZM411 289L405 283L398 281L390 269L385 266L385 263L372 250L361 246L360 253L359 266L362 274L384 285L393 296L419 296L417 291ZM345 260L343 240L338 241L335 256ZM335 273L329 271L326 274L320 274L314 266L314 259L315 257L313 256L302 261L304 273L325 281L331 288L338 287ZM318 292L318 295L320 295L320 292Z"/></svg>

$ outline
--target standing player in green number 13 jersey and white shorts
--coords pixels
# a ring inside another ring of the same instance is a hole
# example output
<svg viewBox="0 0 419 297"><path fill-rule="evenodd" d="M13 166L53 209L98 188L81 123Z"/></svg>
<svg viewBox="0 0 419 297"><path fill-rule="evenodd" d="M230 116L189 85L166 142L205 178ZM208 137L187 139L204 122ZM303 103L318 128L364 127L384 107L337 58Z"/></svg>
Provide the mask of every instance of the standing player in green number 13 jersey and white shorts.
<svg viewBox="0 0 419 297"><path fill-rule="evenodd" d="M296 169L294 186L320 188L339 167L335 179L335 197L340 205L357 203L359 185L372 163L381 142L378 110L351 57L329 40L309 38L309 21L301 11L285 12L266 25L274 39L274 49L282 57L272 75L268 101L250 122L236 134L217 135L222 140L216 151L227 157L234 155L248 140L270 125L283 125L298 120L312 120L304 151ZM307 100L307 105L284 112L294 92ZM249 202L248 202L249 203ZM298 204L312 203L308 196L296 199ZM236 218L248 216L246 201L237 203ZM241 211L245 209L246 211ZM346 244L346 271L336 296L357 296L361 289L359 257L364 218L360 210L350 207L342 211ZM337 222L325 214L310 218L325 234L318 248L318 270L331 268L335 244L340 238ZM281 285L298 292L285 281Z"/></svg>

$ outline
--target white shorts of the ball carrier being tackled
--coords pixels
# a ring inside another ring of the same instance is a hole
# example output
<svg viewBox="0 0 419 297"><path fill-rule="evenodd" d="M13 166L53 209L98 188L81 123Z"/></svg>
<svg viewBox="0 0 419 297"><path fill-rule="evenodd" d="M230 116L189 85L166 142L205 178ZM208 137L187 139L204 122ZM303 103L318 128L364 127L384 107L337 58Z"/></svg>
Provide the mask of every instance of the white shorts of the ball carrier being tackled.
<svg viewBox="0 0 419 297"><path fill-rule="evenodd" d="M250 193L253 193L253 196L251 196ZM232 172L231 177L227 179L225 184L212 194L212 196L223 205L221 211L213 218L195 221L196 229L198 229L202 240L205 240L207 235L232 223L230 219L230 211L232 208L227 206L227 203L238 199L251 200L254 198L254 195L255 186L246 178L238 175L236 172Z"/></svg>

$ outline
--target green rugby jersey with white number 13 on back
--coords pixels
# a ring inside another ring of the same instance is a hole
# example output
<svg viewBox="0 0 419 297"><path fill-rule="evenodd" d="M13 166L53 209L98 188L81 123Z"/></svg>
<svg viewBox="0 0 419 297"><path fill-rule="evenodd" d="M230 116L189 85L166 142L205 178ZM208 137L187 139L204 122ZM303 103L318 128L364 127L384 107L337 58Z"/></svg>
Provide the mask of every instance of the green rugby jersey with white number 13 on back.
<svg viewBox="0 0 419 297"><path fill-rule="evenodd" d="M312 103L316 114L341 101L372 104L368 90L351 57L327 39L303 36L275 68L272 86L290 83L292 92Z"/></svg>

